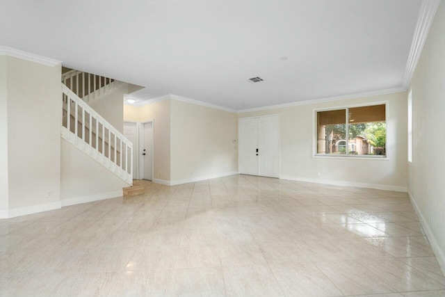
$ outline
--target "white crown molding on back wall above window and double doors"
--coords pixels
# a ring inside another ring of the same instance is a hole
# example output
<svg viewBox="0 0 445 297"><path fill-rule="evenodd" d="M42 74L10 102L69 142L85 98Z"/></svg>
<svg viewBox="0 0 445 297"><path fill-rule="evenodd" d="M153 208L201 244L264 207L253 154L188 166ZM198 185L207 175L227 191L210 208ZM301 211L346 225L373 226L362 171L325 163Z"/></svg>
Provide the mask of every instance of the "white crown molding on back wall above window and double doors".
<svg viewBox="0 0 445 297"><path fill-rule="evenodd" d="M406 92L406 88L402 88L402 87L390 88L390 89L385 89L385 90L374 90L374 91L365 92L365 93L355 93L355 94L341 95L341 96L334 96L334 97L309 99L309 100L284 103L284 104L268 105L268 106L256 107L253 109L241 109L241 110L236 111L236 113L250 113L252 111L266 111L268 109L282 109L282 108L291 107L291 106L315 104L315 103L330 102L330 101L339 101L339 100L354 99L354 98L359 98L359 97L387 95L387 94L400 93L400 92Z"/></svg>

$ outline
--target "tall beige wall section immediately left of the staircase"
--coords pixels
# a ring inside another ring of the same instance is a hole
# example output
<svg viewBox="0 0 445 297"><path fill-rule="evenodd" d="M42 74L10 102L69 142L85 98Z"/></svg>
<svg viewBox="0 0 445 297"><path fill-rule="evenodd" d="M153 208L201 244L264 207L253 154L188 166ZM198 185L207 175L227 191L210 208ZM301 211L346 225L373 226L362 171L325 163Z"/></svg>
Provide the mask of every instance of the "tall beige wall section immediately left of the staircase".
<svg viewBox="0 0 445 297"><path fill-rule="evenodd" d="M60 65L6 57L9 209L60 202Z"/></svg>

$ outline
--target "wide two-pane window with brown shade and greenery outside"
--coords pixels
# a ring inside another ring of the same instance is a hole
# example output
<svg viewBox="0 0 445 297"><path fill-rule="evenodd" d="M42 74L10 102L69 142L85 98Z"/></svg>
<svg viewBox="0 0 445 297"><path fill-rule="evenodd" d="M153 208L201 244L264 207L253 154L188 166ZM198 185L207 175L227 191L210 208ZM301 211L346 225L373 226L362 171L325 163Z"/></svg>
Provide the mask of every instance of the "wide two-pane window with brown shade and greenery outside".
<svg viewBox="0 0 445 297"><path fill-rule="evenodd" d="M386 104L316 112L316 154L386 156Z"/></svg>

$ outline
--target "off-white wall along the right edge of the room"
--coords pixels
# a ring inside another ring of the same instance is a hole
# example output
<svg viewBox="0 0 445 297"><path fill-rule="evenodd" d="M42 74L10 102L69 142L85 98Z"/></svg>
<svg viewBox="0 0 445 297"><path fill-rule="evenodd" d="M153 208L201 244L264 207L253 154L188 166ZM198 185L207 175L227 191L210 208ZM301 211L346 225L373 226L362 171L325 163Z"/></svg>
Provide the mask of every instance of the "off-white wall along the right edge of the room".
<svg viewBox="0 0 445 297"><path fill-rule="evenodd" d="M411 81L413 149L408 188L445 271L445 3L439 5Z"/></svg>

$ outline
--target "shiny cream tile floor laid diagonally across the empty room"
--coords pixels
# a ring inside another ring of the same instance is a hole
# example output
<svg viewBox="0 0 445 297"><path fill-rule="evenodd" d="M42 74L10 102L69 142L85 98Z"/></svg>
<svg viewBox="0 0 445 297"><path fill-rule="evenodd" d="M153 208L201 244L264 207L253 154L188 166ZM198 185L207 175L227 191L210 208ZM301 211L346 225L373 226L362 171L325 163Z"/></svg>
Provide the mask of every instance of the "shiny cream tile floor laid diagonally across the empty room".
<svg viewBox="0 0 445 297"><path fill-rule="evenodd" d="M0 220L0 296L445 296L405 193L138 183L145 195Z"/></svg>

